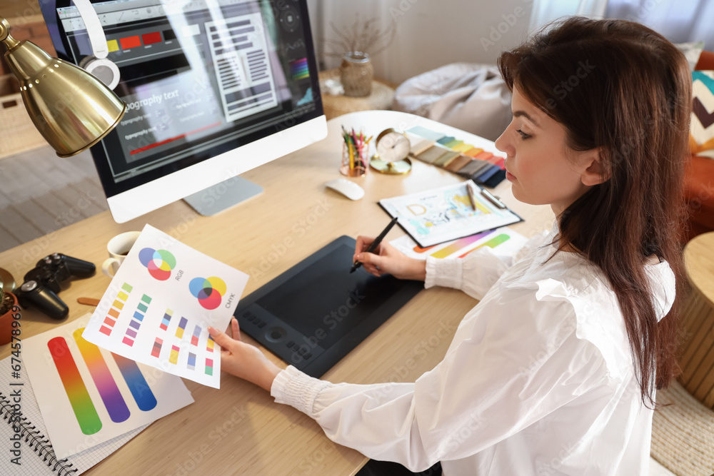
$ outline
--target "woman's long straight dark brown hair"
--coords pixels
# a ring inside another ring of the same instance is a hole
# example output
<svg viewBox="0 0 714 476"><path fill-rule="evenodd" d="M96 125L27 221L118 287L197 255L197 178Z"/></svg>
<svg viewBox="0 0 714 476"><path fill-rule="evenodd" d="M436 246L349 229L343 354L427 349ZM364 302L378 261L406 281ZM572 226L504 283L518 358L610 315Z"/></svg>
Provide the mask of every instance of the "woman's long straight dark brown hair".
<svg viewBox="0 0 714 476"><path fill-rule="evenodd" d="M599 148L607 180L559 217L558 248L575 247L608 278L643 403L653 406L655 388L678 373L680 299L658 323L645 260L666 260L683 289L682 187L692 98L687 61L641 24L573 17L504 52L498 66L511 91L515 83L565 127L570 148Z"/></svg>

